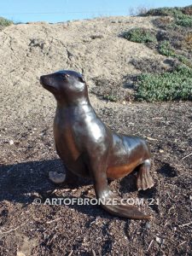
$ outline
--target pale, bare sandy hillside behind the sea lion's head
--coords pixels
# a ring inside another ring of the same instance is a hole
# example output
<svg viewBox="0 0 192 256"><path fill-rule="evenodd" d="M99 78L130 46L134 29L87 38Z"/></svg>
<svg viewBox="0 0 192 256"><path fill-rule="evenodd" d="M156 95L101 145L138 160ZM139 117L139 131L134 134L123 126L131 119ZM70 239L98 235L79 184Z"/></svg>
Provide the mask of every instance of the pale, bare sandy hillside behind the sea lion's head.
<svg viewBox="0 0 192 256"><path fill-rule="evenodd" d="M133 58L166 59L144 44L119 37L135 26L152 28L153 19L118 17L5 28L0 32L1 108L11 108L11 119L26 119L28 113L41 116L49 111L47 105L54 108L52 96L42 90L38 79L60 69L84 73L90 86L99 77L115 80L120 90L125 76L138 73L130 62Z"/></svg>

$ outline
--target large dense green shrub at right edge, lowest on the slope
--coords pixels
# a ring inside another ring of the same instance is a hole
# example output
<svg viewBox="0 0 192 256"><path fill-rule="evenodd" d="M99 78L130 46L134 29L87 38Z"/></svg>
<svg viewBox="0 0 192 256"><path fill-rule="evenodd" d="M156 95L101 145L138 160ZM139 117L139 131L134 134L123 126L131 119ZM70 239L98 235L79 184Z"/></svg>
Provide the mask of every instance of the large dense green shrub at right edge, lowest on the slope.
<svg viewBox="0 0 192 256"><path fill-rule="evenodd" d="M137 77L137 100L192 100L192 70L177 67L172 73L142 74Z"/></svg>

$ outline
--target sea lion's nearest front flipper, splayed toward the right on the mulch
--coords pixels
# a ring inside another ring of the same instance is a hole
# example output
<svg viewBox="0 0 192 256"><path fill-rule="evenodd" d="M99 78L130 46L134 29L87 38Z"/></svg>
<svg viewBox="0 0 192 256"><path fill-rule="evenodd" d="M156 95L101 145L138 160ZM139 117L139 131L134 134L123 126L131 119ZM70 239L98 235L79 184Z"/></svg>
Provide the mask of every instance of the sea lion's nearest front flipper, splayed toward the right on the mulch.
<svg viewBox="0 0 192 256"><path fill-rule="evenodd" d="M119 217L135 219L152 218L151 216L140 212L137 207L120 201L108 187L108 179L105 166L101 164L96 165L96 163L93 164L93 161L91 163L92 165L90 166L90 172L94 179L96 197L103 209ZM102 160L100 163L102 163Z"/></svg>

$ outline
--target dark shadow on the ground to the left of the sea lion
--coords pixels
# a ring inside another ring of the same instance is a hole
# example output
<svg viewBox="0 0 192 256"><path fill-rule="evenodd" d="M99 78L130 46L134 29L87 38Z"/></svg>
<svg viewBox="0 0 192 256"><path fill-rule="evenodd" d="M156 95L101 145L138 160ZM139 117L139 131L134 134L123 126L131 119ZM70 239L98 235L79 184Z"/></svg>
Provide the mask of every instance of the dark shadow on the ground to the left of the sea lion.
<svg viewBox="0 0 192 256"><path fill-rule="evenodd" d="M67 184L55 185L49 181L49 172L64 172L62 162L55 160L27 161L15 165L0 166L0 201L32 203L31 194L50 195L56 188L68 187ZM79 179L78 188L90 181Z"/></svg>

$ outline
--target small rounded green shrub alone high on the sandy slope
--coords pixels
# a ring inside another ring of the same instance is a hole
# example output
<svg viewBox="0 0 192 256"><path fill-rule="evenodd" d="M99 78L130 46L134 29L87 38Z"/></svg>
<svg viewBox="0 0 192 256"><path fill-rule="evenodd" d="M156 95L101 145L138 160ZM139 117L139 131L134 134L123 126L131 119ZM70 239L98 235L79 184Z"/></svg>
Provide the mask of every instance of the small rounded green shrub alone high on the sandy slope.
<svg viewBox="0 0 192 256"><path fill-rule="evenodd" d="M156 37L148 29L133 28L128 32L123 33L123 38L136 43L156 42Z"/></svg>

